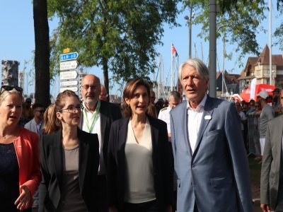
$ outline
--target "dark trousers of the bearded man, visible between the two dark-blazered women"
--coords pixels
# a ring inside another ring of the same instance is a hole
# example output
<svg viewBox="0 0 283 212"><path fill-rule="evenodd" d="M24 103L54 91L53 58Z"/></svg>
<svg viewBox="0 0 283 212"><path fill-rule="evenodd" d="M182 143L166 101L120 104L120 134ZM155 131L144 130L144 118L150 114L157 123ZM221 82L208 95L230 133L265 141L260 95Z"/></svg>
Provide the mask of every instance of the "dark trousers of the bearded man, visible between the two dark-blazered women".
<svg viewBox="0 0 283 212"><path fill-rule="evenodd" d="M108 212L107 195L106 195L106 177L98 175L98 212Z"/></svg>

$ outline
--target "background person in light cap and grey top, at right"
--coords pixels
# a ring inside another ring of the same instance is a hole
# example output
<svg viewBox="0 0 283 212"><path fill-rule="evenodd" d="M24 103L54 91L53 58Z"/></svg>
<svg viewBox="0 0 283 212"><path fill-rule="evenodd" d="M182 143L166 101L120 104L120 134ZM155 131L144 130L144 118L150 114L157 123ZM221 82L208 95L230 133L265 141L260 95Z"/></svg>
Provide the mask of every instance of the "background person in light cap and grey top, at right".
<svg viewBox="0 0 283 212"><path fill-rule="evenodd" d="M267 122L275 117L275 112L273 108L269 104L267 104L268 93L265 90L260 91L260 93L257 94L257 97L262 108L261 112L258 112L258 114L260 114L258 129L260 131L260 155L263 155L263 149L265 148Z"/></svg>

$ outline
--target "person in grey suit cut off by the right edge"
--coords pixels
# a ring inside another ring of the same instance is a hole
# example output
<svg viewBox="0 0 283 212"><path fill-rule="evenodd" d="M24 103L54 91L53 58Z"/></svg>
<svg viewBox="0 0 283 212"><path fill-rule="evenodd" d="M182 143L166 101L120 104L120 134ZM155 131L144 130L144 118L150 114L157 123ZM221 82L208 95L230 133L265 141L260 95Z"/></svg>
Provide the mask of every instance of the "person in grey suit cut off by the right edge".
<svg viewBox="0 0 283 212"><path fill-rule="evenodd" d="M281 91L283 103L283 91ZM282 134L283 117L267 123L265 149L260 176L260 208L263 212L283 211Z"/></svg>

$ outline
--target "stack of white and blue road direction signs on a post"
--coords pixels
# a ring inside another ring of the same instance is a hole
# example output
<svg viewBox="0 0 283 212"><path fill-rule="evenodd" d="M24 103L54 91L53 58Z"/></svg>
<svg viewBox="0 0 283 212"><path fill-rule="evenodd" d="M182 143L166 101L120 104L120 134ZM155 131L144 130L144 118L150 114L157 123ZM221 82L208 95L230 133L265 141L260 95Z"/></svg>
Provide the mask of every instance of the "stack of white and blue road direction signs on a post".
<svg viewBox="0 0 283 212"><path fill-rule="evenodd" d="M70 49L64 49L66 54L60 54L60 92L64 90L79 91L79 80L77 79L78 73L76 68L78 62L76 59L79 56L78 52L69 53ZM78 94L78 93L77 93Z"/></svg>

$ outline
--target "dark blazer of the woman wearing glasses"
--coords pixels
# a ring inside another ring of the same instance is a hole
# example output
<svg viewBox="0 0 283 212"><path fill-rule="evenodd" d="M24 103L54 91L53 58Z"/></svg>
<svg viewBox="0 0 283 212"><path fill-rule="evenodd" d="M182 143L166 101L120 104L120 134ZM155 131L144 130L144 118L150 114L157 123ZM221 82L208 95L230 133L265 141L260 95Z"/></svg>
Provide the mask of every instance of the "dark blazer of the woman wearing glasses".
<svg viewBox="0 0 283 212"><path fill-rule="evenodd" d="M79 185L88 211L96 211L96 178L99 165L97 134L78 129ZM62 130L43 134L40 142L40 164L47 187L45 211L56 211L62 190Z"/></svg>

